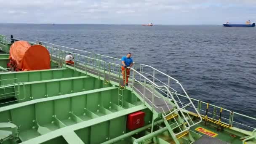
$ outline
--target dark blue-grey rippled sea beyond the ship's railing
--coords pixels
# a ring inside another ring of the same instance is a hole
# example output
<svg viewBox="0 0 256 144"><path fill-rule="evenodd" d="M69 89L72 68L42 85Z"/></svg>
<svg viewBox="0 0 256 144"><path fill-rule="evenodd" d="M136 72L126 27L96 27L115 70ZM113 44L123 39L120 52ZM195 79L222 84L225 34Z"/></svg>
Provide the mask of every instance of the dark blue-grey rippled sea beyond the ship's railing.
<svg viewBox="0 0 256 144"><path fill-rule="evenodd" d="M0 33L42 40L161 69L192 98L256 117L256 28L0 24Z"/></svg>

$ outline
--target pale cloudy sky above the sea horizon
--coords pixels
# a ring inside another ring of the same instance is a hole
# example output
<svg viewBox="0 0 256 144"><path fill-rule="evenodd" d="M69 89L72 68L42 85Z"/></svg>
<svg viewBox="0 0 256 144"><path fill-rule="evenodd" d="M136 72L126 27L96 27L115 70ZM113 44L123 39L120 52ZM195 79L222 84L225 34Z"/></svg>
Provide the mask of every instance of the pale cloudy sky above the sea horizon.
<svg viewBox="0 0 256 144"><path fill-rule="evenodd" d="M0 23L245 23L255 10L256 0L0 0Z"/></svg>

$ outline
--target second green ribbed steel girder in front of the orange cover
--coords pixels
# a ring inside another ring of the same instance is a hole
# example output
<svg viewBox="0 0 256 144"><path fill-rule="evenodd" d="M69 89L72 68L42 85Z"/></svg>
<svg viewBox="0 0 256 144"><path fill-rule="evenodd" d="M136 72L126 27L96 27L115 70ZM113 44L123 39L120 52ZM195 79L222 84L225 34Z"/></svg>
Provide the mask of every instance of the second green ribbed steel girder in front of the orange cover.
<svg viewBox="0 0 256 144"><path fill-rule="evenodd" d="M6 88L10 88L10 93L15 93L15 89L12 87L13 85L11 84L8 86L0 86L0 93L4 93ZM25 97L25 99L19 102L103 88L103 82L94 77L81 76L26 82L24 83L24 87L24 89L20 89L20 94L16 96L17 99L22 99ZM10 97L12 96L13 95L10 95Z"/></svg>

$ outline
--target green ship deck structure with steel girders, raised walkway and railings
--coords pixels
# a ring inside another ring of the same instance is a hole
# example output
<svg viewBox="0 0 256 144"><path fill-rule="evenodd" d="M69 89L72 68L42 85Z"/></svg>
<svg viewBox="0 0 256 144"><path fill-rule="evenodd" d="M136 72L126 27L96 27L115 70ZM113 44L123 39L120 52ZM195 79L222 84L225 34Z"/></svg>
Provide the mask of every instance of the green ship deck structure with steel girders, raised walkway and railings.
<svg viewBox="0 0 256 144"><path fill-rule="evenodd" d="M122 86L120 59L37 41L52 69L5 72L11 43L0 36L0 144L256 143L256 118L192 99L153 67L135 63ZM64 61L70 51L74 65ZM145 124L130 131L138 111Z"/></svg>

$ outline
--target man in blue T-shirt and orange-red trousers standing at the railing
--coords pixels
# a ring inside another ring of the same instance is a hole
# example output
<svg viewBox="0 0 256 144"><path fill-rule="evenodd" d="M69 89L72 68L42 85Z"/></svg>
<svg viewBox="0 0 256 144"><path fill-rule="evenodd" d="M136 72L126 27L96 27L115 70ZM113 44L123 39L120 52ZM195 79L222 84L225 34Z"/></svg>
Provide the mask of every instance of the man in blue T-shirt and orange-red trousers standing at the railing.
<svg viewBox="0 0 256 144"><path fill-rule="evenodd" d="M131 53L127 53L126 56L122 57L122 75L123 75L123 84L125 85L125 71L126 71L126 85L128 85L128 78L130 76L130 69L127 67L133 66L133 59L131 58Z"/></svg>

